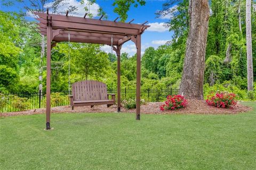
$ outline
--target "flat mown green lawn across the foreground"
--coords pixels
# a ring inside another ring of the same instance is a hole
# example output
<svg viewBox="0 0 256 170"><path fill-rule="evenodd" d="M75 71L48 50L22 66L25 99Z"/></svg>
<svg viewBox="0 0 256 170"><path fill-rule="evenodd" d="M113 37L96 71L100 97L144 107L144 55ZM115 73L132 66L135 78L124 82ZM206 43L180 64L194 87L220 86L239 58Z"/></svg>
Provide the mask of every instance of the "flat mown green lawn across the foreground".
<svg viewBox="0 0 256 170"><path fill-rule="evenodd" d="M0 119L0 169L256 169L256 102L236 115Z"/></svg>

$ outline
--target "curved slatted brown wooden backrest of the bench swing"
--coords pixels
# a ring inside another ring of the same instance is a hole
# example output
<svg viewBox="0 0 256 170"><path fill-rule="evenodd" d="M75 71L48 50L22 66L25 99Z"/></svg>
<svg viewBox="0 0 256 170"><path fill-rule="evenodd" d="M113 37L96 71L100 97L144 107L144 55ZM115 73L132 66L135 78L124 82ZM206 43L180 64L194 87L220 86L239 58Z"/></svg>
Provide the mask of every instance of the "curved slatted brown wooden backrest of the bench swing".
<svg viewBox="0 0 256 170"><path fill-rule="evenodd" d="M85 80L72 84L74 101L107 100L107 86L105 83Z"/></svg>

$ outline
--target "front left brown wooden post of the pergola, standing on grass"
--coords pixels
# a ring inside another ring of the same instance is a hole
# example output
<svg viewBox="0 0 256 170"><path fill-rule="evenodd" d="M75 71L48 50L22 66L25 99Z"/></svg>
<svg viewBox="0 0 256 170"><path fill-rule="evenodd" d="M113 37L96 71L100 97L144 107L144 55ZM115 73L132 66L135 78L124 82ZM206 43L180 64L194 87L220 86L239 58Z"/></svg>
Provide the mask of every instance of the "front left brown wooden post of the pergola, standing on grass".
<svg viewBox="0 0 256 170"><path fill-rule="evenodd" d="M48 21L49 22L49 21ZM51 43L52 43L52 27L47 24L47 54L46 54L46 129L51 129Z"/></svg>

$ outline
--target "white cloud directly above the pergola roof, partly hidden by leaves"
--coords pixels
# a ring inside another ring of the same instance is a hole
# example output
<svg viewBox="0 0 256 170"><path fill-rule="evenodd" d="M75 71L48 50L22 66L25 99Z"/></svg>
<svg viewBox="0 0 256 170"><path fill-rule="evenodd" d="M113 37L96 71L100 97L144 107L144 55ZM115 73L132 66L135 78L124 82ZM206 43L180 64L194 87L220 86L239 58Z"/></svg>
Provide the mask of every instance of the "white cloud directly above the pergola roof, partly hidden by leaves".
<svg viewBox="0 0 256 170"><path fill-rule="evenodd" d="M69 6L76 6L77 10L74 12L70 12L68 15L75 16L75 17L83 17L85 14L84 7L87 6L87 8L89 9L89 5L87 5L87 2L88 2L87 0L84 0L84 4L81 4L77 0L66 0L58 6L57 13L66 12L69 9ZM52 13L52 10L51 10L52 5L53 5L53 2L49 2L49 3L46 3L44 6L44 7L49 7L49 13ZM90 13L93 15L93 17L97 16L99 8L100 6L96 3L94 3L93 5L90 5ZM27 12L27 15L29 17L35 17L34 14L30 13L29 11Z"/></svg>

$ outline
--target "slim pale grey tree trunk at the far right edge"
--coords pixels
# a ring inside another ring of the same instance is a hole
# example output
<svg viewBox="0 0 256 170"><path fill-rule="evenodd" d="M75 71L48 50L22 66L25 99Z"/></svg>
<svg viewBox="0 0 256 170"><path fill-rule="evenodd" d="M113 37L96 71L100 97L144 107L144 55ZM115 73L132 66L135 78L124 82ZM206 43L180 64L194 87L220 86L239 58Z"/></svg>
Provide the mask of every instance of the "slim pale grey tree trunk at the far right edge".
<svg viewBox="0 0 256 170"><path fill-rule="evenodd" d="M247 90L253 90L251 0L246 0Z"/></svg>

